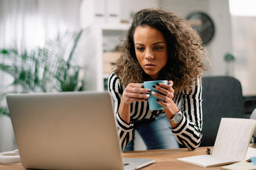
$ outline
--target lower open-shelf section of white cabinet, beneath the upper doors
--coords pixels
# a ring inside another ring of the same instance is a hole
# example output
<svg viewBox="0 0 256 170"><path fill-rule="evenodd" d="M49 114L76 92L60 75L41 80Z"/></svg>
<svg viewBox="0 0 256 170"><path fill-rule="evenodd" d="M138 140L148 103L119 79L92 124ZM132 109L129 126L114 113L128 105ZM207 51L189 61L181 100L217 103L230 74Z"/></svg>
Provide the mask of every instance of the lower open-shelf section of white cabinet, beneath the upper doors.
<svg viewBox="0 0 256 170"><path fill-rule="evenodd" d="M107 90L107 78L110 73L110 67L114 66L115 59L119 57L116 49L120 45L120 38L124 39L128 27L127 24L95 24L89 30L86 30L86 90Z"/></svg>

